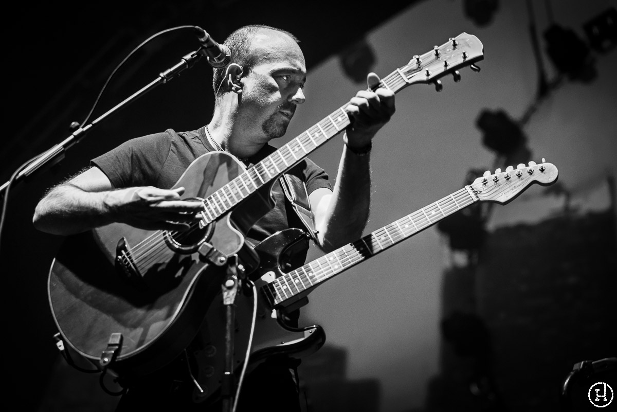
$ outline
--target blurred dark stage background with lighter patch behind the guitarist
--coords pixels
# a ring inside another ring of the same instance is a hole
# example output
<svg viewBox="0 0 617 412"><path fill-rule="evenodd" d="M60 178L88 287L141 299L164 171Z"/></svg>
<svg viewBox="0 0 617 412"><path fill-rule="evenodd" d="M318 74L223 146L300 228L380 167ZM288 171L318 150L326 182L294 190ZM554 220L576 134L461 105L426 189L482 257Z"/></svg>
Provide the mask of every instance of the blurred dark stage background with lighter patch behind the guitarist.
<svg viewBox="0 0 617 412"><path fill-rule="evenodd" d="M481 73L462 70L463 81L444 80L440 94L426 87L397 95L397 115L380 134L392 144L373 154L367 233L469 183L466 173L473 180L486 169L546 156L560 168L559 184L533 187L507 207L470 208L407 248L350 271L353 279L344 275L313 292L305 323L323 324L328 343L302 365L305 408L565 410L560 385L574 363L615 356L617 346L615 38L594 48L584 30L610 2L536 2L535 20L527 6L497 0L16 4L4 31L8 113L0 178L6 182L21 163L66 138L122 59L167 28L198 25L219 42L247 23L296 34L312 102L299 110L288 136L362 88L357 78L369 68L389 73L461 31L477 34L486 47ZM540 60L529 34L533 22ZM553 31L557 41L550 43L544 34L551 23L572 28L576 37ZM89 120L197 47L189 31L149 42L123 65ZM584 64L572 67L560 56ZM344 69L343 57L355 70ZM212 112L210 82L210 67L198 62L103 120L61 163L10 188L0 258L6 393L16 409L109 411L115 403L96 378L66 366L54 345L46 274L62 239L33 229L36 202L126 139L204 125ZM313 157L332 178L337 144ZM309 258L317 256L313 250ZM576 402L590 384L573 385Z"/></svg>

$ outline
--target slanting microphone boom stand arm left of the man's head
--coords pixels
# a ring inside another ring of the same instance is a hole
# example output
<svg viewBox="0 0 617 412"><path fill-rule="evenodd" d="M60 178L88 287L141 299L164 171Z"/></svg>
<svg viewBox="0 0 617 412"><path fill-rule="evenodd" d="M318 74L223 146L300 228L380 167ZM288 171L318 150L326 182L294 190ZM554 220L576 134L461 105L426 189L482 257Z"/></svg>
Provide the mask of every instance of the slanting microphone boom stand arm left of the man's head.
<svg viewBox="0 0 617 412"><path fill-rule="evenodd" d="M48 149L45 152L43 152L43 154L39 155L35 160L33 160L33 162L30 162L27 165L27 167L23 168L23 170L21 170L17 174L17 176L15 176L13 181L9 180L6 183L2 184L2 186L0 186L0 194L4 192L7 189L7 187L9 187L9 184L12 184L16 181L20 181L26 176L29 176L31 173L33 173L33 171L37 170L38 168L48 163L49 161L56 159L55 161L58 162L59 160L62 160L62 157L64 157L64 152L68 148L73 146L73 144L81 141L81 139L86 135L86 133L91 128L96 126L98 123L100 123L104 118L108 117L114 112L117 112L117 110L122 109L122 107L134 101L138 97L143 96L144 94L149 92L151 89L153 89L155 86L158 86L159 84L167 83L168 81L172 80L172 78L174 78L176 75L178 75L180 72L182 72L186 68L193 67L193 65L197 62L197 60L201 59L201 57L204 57L204 56L207 56L206 52L204 51L204 47L200 47L196 51L192 51L189 54L186 54L186 56L182 57L181 61L178 62L178 64L175 64L172 67L168 68L167 70L165 70L165 72L161 72L159 74L159 77L157 77L155 80L151 81L149 84L139 89L136 93L127 97L124 101L120 102L120 104L115 105L115 107L108 110L106 113L103 113L100 117L96 118L92 123L89 123L88 125L84 127L80 127L77 130L73 131L73 133L71 133L70 136L68 136L68 138L64 139L62 142L56 144L56 146L51 147L51 149ZM62 155L62 156L59 157L59 155Z"/></svg>

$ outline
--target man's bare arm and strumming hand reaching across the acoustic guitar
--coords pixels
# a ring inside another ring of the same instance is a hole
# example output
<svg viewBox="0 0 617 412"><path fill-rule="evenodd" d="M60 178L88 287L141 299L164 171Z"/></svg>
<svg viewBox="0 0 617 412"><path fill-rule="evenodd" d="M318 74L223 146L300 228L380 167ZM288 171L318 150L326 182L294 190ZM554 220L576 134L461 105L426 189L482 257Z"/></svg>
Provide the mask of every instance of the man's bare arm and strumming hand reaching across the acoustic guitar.
<svg viewBox="0 0 617 412"><path fill-rule="evenodd" d="M183 192L182 187L114 189L107 176L93 167L51 189L36 205L33 224L40 231L60 235L113 222L141 229L184 230L204 205L181 200Z"/></svg>

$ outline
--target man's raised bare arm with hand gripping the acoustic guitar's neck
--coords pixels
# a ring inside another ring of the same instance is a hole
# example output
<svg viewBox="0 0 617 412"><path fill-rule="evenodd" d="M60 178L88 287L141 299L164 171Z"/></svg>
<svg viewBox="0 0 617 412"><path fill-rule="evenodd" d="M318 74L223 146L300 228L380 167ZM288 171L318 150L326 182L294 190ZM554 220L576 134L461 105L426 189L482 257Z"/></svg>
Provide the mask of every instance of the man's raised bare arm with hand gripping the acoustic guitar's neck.
<svg viewBox="0 0 617 412"><path fill-rule="evenodd" d="M370 73L367 82L374 86L379 77ZM357 240L366 227L371 204L370 145L394 114L394 93L387 89L358 91L346 111L352 123L343 138L334 191L317 189L309 196L318 241L326 252Z"/></svg>

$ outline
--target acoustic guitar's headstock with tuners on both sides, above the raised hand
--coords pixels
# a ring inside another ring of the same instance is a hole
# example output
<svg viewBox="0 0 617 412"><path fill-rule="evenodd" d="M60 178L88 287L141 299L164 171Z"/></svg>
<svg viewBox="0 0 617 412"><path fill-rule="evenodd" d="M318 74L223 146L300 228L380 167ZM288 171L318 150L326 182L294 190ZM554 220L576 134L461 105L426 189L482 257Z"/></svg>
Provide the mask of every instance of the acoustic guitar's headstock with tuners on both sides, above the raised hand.
<svg viewBox="0 0 617 412"><path fill-rule="evenodd" d="M474 63L482 59L482 42L476 36L463 32L421 56L413 56L407 65L399 68L399 73L408 84L435 83L437 91L441 91L439 78L452 73L454 81L459 81L458 68L471 66L472 70L479 72L480 68Z"/></svg>

